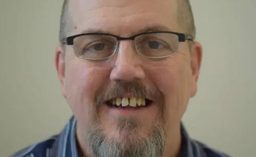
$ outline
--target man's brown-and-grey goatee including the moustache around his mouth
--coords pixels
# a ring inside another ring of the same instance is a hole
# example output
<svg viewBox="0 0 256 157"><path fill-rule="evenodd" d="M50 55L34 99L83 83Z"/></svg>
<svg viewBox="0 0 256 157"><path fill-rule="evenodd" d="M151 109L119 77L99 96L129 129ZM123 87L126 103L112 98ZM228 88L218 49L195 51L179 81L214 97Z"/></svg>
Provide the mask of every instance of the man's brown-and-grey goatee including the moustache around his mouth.
<svg viewBox="0 0 256 157"><path fill-rule="evenodd" d="M100 90L95 99L93 121L87 132L88 151L93 157L162 157L165 147L164 105L162 94L154 89L148 89L139 81L120 82ZM140 136L141 121L134 116L119 116L117 118L118 138L109 137L100 125L100 103L125 93L136 97L153 98L159 104L159 116L151 128ZM160 122L161 120L161 122ZM162 124L162 126L160 125Z"/></svg>

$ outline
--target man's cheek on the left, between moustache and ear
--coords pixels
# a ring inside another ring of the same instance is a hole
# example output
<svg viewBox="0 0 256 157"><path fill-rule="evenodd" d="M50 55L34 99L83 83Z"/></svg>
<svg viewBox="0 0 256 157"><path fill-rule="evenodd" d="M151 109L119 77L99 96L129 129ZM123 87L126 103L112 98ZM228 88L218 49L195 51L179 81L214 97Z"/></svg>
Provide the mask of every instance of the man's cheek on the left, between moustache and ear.
<svg viewBox="0 0 256 157"><path fill-rule="evenodd" d="M109 79L109 73L106 66L92 66L81 59L66 64L67 102L78 120L92 121L90 113L94 113L96 91Z"/></svg>

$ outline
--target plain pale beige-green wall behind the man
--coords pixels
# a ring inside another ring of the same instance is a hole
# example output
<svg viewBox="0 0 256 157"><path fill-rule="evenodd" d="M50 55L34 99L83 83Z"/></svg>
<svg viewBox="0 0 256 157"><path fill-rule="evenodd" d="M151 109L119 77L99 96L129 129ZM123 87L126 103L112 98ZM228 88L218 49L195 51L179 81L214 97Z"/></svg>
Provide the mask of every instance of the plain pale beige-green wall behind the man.
<svg viewBox="0 0 256 157"><path fill-rule="evenodd" d="M61 131L72 115L54 67L62 0L0 0L0 157ZM184 124L234 157L255 157L256 1L191 0L203 61Z"/></svg>

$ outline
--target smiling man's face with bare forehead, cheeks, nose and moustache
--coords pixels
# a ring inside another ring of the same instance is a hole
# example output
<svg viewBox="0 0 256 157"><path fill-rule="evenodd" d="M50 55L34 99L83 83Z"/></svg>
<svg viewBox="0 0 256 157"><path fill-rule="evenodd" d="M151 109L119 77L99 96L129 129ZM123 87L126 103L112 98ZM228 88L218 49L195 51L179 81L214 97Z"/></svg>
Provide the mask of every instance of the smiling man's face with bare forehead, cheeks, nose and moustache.
<svg viewBox="0 0 256 157"><path fill-rule="evenodd" d="M176 0L71 0L69 14L68 36L95 31L120 37L155 30L184 33L177 23ZM195 63L200 60L191 57L187 42L162 59L139 56L131 40L121 41L114 56L100 61L78 58L72 46L66 46L65 56L57 61L58 73L78 133L86 141L90 128L97 126L108 139L125 141L131 133L130 140L149 138L153 128L161 126L170 146L189 98L196 93L199 66L191 67L193 58ZM113 98L137 94L146 99L146 107L109 105Z"/></svg>

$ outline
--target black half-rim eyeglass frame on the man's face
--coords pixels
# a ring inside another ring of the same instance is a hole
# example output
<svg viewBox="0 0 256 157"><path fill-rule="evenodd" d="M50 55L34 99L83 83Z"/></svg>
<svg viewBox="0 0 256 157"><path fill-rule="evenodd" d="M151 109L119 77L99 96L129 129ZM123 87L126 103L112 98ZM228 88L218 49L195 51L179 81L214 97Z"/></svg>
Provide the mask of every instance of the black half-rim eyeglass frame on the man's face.
<svg viewBox="0 0 256 157"><path fill-rule="evenodd" d="M135 37L138 37L138 36L144 35L144 34L154 34L154 33L170 33L170 34L175 34L175 35L178 36L178 42L185 42L186 40L192 41L192 42L194 41L192 36L190 36L188 34L184 34L184 33L178 33L178 32L173 32L173 31L149 31L149 32L139 33L139 34L136 34L136 35L131 36L131 37L119 37L119 36L115 36L115 35L112 35L112 34L109 34L109 33L83 33L83 34L78 34L78 35L67 37L66 38L66 42L63 42L63 44L73 45L74 44L74 39L76 37L86 36L86 35L108 35L108 36L117 38L117 47L115 48L115 50L111 54L111 56L108 56L106 58L96 58L96 59L95 58L82 58L82 59L88 59L88 60L102 60L102 59L111 58L117 52L117 49L118 49L119 44L120 44L120 41L122 41L122 40L133 40L134 41ZM173 54L171 54L171 55L161 56L161 57L149 57L149 56L144 56L143 54L140 54L137 50L136 50L136 52L140 56L145 57L145 58L166 58L166 57L169 57L169 56L173 55Z"/></svg>

